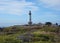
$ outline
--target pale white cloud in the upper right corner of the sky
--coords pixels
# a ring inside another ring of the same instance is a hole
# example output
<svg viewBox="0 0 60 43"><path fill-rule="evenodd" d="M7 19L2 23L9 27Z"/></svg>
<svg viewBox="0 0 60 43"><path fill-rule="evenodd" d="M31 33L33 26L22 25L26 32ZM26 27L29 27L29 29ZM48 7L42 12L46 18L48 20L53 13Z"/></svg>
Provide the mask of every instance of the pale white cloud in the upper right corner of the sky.
<svg viewBox="0 0 60 43"><path fill-rule="evenodd" d="M39 0L46 8L60 10L60 0Z"/></svg>

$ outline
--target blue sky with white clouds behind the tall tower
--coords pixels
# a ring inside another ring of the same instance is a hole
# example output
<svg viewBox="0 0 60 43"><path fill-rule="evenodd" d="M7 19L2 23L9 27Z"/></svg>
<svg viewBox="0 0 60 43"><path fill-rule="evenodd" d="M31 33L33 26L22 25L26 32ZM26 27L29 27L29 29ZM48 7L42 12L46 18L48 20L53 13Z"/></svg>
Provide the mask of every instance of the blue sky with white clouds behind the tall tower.
<svg viewBox="0 0 60 43"><path fill-rule="evenodd" d="M0 27L33 23L59 23L60 0L0 0Z"/></svg>

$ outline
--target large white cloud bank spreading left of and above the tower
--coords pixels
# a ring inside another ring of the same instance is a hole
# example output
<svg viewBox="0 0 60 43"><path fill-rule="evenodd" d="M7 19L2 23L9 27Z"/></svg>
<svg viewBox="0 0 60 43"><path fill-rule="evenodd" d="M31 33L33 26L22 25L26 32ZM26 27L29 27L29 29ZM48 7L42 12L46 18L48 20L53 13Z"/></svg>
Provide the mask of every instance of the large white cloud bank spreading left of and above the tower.
<svg viewBox="0 0 60 43"><path fill-rule="evenodd" d="M0 12L2 14L26 14L29 10L38 10L35 3L26 2L25 0L0 0Z"/></svg>

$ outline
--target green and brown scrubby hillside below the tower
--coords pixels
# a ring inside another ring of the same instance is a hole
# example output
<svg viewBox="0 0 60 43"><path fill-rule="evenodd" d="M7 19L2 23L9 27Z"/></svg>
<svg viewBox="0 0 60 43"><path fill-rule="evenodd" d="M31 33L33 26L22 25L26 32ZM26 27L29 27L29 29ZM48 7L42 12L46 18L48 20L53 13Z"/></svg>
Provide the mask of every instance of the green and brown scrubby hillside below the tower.
<svg viewBox="0 0 60 43"><path fill-rule="evenodd" d="M60 26L4 27L0 43L60 43Z"/></svg>

